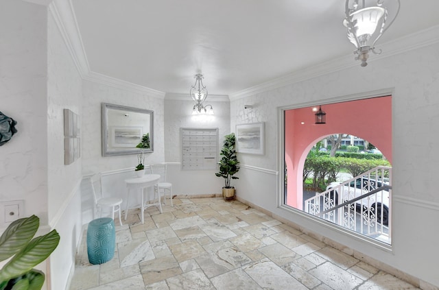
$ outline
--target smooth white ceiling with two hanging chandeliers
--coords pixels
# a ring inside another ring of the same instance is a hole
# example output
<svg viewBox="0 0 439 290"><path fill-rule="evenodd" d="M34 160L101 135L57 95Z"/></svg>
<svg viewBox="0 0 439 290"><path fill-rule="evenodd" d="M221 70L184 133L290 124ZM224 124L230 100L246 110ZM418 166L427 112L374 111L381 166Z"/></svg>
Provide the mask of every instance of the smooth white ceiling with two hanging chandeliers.
<svg viewBox="0 0 439 290"><path fill-rule="evenodd" d="M189 93L195 73L230 95L334 58L360 64L344 0L71 2L91 71L165 93ZM439 1L401 2L377 47L439 25Z"/></svg>

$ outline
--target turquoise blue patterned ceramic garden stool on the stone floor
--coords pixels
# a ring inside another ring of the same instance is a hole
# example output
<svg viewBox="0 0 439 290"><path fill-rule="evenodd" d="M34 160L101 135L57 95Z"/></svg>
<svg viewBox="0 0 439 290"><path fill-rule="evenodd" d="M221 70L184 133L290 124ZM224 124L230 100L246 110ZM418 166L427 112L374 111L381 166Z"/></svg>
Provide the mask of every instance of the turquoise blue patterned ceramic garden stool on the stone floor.
<svg viewBox="0 0 439 290"><path fill-rule="evenodd" d="M110 261L115 255L115 221L110 217L93 219L87 228L88 261L93 265Z"/></svg>

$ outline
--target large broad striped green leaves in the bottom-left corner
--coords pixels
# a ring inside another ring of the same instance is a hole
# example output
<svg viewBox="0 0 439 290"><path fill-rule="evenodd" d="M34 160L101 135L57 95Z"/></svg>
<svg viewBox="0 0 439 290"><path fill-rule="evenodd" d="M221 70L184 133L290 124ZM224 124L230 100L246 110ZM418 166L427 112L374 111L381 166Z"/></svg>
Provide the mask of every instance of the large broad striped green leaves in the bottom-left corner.
<svg viewBox="0 0 439 290"><path fill-rule="evenodd" d="M60 242L56 230L32 239L40 219L36 215L13 221L0 237L0 261L10 258L0 270L0 290L39 290L45 274L33 269L54 252Z"/></svg>

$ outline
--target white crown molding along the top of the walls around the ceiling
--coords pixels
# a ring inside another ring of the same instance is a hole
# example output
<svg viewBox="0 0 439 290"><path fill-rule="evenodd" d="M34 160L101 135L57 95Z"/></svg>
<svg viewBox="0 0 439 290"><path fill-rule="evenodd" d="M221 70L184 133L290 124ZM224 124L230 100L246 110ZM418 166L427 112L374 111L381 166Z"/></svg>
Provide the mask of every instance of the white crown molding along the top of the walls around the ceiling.
<svg viewBox="0 0 439 290"><path fill-rule="evenodd" d="M76 21L75 12L71 4L71 0L24 0L31 3L38 3L40 5L47 5L49 3L49 11L54 16L56 25L60 29L60 33L64 42L67 45L67 49L73 58L73 62L78 69L81 77L84 80L89 80L91 82L98 82L100 84L106 84L108 86L113 86L116 88L123 88L126 90L131 90L136 93L146 93L154 97L160 97L165 99L187 99L185 94L174 94L174 93L164 93L159 90L154 90L152 88L147 88L145 86L140 86L138 84L132 84L130 82L125 82L123 80L118 80L114 77L109 77L102 75L100 73L95 73L90 70L88 65L88 60L84 50L84 45L82 44L82 38L80 35L80 30L78 29L78 23ZM420 47L425 47L428 45L433 45L439 42L439 25L429 27L428 29L416 32L404 36L402 38L396 39L392 42L384 43L379 45L378 49L384 51L383 54L374 55L368 62L372 64L377 60L382 60L383 58L389 58L400 53L405 53L413 49L418 49ZM278 77L274 80L268 82L263 82L257 86L252 86L244 90L239 90L236 93L230 94L229 96L217 95L217 97L209 99L209 101L233 101L235 99L241 99L244 97L250 97L258 93L263 93L268 90L273 90L275 88L281 88L289 84L294 84L297 82L302 82L309 80L313 77L318 77L320 75L326 75L328 73L333 73L335 71L341 71L343 69L349 69L352 67L359 66L359 62L354 60L353 54L349 54L340 58L335 58L328 62L323 62L311 67L304 67L298 69L292 73ZM183 97L184 96L184 97ZM215 96L215 95L211 95Z"/></svg>

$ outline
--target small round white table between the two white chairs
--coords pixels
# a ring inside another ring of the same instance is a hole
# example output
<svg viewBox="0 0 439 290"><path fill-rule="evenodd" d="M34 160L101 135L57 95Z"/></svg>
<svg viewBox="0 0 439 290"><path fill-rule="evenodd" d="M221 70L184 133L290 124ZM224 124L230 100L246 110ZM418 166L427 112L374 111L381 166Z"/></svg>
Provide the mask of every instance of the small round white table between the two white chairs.
<svg viewBox="0 0 439 290"><path fill-rule="evenodd" d="M146 189L148 187L154 186L158 183L158 179L160 178L160 175L158 174L145 174L141 178L128 178L125 180L126 186L128 187L128 195L126 199L126 210L125 210L125 220L128 215L128 208L129 208L129 200L130 200L130 193L131 190L140 190L141 193L141 220L143 223L143 211L145 208L148 208L150 206L158 206L158 210L160 210L160 213L162 213L162 204L161 204L161 198L160 193L158 191L153 190L154 197L153 202L155 202L156 196L157 196L157 202L156 203L147 203L149 200L145 200L145 193Z"/></svg>

